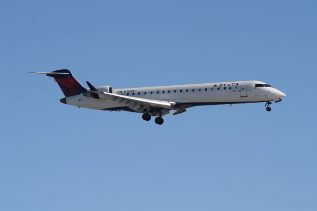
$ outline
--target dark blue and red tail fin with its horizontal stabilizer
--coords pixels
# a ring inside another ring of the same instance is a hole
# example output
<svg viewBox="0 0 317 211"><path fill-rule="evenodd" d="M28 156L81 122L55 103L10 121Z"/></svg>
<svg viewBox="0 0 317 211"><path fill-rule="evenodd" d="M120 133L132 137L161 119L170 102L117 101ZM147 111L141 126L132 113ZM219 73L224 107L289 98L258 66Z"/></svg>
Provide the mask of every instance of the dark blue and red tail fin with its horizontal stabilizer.
<svg viewBox="0 0 317 211"><path fill-rule="evenodd" d="M73 77L73 74L71 74L69 70L62 69L53 72L30 73L46 74L47 76L53 77L61 91L64 93L65 97L87 93L87 90L76 80L76 78Z"/></svg>

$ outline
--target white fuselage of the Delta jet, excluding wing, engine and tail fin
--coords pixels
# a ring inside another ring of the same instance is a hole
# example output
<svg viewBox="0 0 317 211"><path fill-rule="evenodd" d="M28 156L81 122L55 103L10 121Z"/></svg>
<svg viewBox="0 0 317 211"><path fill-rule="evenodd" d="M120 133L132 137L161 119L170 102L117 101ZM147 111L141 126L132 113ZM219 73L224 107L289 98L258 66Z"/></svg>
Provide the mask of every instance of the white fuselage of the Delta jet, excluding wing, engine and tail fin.
<svg viewBox="0 0 317 211"><path fill-rule="evenodd" d="M263 85L262 87L256 87ZM265 85L265 86L264 86ZM181 107L279 101L285 94L261 81L234 81L207 84L113 89L114 94L143 99L175 102ZM76 95L66 98L72 106L121 110L126 103ZM123 109L124 110L124 109Z"/></svg>

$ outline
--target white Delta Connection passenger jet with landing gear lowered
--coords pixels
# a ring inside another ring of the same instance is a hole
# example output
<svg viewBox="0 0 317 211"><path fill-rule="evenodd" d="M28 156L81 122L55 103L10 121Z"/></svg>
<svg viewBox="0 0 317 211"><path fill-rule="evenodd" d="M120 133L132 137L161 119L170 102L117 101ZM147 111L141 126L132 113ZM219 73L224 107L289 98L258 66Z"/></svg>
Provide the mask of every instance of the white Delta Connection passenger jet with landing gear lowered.
<svg viewBox="0 0 317 211"><path fill-rule="evenodd" d="M53 77L65 98L63 104L109 111L131 111L142 113L149 121L156 116L155 123L161 125L162 118L172 112L183 113L189 107L208 105L233 105L265 103L271 111L272 102L279 103L286 95L261 81L231 81L206 84L157 86L112 89L111 86L94 87L86 81L85 88L67 69L53 72L29 72Z"/></svg>

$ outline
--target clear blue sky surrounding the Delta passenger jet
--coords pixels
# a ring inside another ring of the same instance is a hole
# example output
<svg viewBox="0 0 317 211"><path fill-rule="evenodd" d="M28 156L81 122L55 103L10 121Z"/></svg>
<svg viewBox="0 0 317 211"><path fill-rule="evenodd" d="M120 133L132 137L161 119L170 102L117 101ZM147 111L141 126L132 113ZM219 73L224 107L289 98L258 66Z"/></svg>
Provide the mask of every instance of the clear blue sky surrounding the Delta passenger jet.
<svg viewBox="0 0 317 211"><path fill-rule="evenodd" d="M316 211L316 1L3 1L0 210ZM67 106L113 88L261 80L282 103L163 125Z"/></svg>

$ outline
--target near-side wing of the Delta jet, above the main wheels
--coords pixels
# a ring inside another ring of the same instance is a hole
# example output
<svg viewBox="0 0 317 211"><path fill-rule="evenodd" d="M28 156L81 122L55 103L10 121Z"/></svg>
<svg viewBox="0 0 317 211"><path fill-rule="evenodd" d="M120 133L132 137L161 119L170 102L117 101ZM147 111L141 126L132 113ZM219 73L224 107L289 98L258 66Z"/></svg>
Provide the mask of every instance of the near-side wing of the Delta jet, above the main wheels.
<svg viewBox="0 0 317 211"><path fill-rule="evenodd" d="M92 93L104 96L103 99L108 99L111 101L117 101L118 103L125 103L129 105L129 108L137 111L143 112L145 109L151 110L171 110L176 105L174 102L168 101L157 101L144 98L135 98L124 95L117 95L113 93L101 92L101 91L91 91Z"/></svg>

